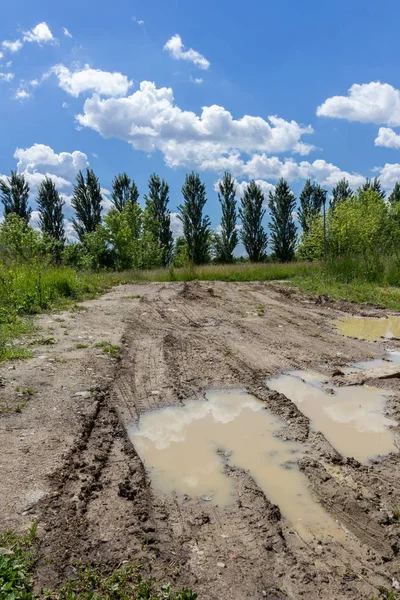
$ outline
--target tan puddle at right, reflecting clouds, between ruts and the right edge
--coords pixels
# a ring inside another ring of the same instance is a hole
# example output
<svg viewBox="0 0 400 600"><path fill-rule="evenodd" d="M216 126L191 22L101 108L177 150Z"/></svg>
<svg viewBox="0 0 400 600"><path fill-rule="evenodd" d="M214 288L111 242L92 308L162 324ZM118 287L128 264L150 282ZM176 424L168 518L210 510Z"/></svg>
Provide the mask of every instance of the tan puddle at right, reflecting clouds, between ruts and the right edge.
<svg viewBox="0 0 400 600"><path fill-rule="evenodd" d="M369 386L336 387L312 371L293 371L267 382L284 394L340 454L360 462L396 451L385 416L387 391Z"/></svg>

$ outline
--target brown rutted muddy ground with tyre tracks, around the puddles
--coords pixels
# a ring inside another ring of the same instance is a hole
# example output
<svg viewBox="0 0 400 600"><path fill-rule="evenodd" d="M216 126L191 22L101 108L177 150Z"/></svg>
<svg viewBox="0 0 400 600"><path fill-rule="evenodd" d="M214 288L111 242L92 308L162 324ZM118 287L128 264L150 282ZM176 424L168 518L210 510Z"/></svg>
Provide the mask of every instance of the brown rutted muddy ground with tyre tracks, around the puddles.
<svg viewBox="0 0 400 600"><path fill-rule="evenodd" d="M81 310L40 317L35 356L0 368L8 409L0 416L0 529L39 520L37 587L73 575L76 560L114 567L132 557L202 600L359 600L400 586L399 455L367 466L344 459L265 385L287 369L331 374L382 357L387 343L342 337L332 324L360 313L385 314L279 283L193 282L120 286ZM120 346L120 359L99 342ZM399 420L400 380L369 383L393 391L387 410ZM238 386L286 423L287 439L305 444L300 468L315 500L349 532L344 543L303 539L234 465L228 507L153 489L125 426L204 399L208 388Z"/></svg>

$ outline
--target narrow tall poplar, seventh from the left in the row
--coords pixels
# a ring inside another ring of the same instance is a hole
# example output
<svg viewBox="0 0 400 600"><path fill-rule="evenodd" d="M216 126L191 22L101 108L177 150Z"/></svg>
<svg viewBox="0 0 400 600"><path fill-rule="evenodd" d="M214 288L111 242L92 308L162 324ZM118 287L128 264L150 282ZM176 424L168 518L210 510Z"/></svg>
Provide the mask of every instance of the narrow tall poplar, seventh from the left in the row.
<svg viewBox="0 0 400 600"><path fill-rule="evenodd" d="M221 204L221 232L215 236L215 258L218 262L232 263L233 252L238 245L239 237L236 230L236 191L235 179L228 172L224 173L218 184L218 200Z"/></svg>

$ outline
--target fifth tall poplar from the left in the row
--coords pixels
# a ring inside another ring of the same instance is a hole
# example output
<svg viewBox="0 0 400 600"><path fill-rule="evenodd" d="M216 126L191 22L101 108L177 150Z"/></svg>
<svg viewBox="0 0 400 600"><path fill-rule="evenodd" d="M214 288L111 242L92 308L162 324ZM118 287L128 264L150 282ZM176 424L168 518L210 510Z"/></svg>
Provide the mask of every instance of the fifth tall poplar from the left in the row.
<svg viewBox="0 0 400 600"><path fill-rule="evenodd" d="M171 231L171 213L168 210L169 185L153 173L149 178L149 193L145 195L149 228L158 241L162 263L168 266L172 258L174 240Z"/></svg>

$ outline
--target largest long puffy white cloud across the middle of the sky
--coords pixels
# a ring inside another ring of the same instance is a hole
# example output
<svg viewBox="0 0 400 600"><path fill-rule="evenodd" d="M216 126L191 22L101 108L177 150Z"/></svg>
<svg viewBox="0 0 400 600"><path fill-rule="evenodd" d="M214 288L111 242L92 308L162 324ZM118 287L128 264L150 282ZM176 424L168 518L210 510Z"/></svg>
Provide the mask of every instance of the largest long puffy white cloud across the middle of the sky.
<svg viewBox="0 0 400 600"><path fill-rule="evenodd" d="M85 101L77 121L103 137L125 140L138 150L161 150L171 167L212 166L219 161L218 169L211 168L219 171L226 168L224 161L230 163L240 152L307 154L313 149L301 141L303 135L313 132L310 126L276 116L268 117L268 121L249 115L236 120L217 105L204 106L198 116L176 106L171 88L156 88L149 81L143 81L140 90L125 98L102 99L95 94Z"/></svg>

